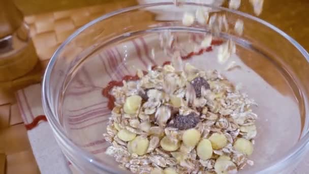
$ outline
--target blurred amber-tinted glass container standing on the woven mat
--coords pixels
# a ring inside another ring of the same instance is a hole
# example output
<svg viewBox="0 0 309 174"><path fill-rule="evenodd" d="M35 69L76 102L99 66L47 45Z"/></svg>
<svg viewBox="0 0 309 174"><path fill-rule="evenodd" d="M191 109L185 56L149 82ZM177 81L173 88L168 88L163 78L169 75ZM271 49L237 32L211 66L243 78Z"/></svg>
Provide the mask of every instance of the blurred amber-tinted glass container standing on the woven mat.
<svg viewBox="0 0 309 174"><path fill-rule="evenodd" d="M25 75L37 61L22 13L13 1L0 0L0 83Z"/></svg>

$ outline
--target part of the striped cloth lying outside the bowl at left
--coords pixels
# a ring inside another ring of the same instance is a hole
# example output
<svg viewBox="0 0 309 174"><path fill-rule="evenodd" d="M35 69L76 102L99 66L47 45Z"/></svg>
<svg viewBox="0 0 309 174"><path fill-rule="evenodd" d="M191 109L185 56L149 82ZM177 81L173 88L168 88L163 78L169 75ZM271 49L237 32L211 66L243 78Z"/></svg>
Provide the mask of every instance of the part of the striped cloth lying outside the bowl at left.
<svg viewBox="0 0 309 174"><path fill-rule="evenodd" d="M43 115L41 84L28 86L16 93L21 117L25 125L31 124L38 115ZM47 122L40 121L28 138L41 173L71 173L68 161L61 152Z"/></svg>

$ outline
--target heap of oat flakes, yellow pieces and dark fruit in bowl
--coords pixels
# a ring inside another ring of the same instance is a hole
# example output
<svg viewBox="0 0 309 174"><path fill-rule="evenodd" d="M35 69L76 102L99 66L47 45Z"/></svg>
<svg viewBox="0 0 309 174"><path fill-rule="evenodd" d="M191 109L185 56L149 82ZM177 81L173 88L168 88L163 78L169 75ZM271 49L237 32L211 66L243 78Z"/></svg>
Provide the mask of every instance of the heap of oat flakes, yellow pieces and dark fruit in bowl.
<svg viewBox="0 0 309 174"><path fill-rule="evenodd" d="M139 80L111 90L106 153L134 173L234 173L253 165L255 102L215 70L175 67L139 70Z"/></svg>

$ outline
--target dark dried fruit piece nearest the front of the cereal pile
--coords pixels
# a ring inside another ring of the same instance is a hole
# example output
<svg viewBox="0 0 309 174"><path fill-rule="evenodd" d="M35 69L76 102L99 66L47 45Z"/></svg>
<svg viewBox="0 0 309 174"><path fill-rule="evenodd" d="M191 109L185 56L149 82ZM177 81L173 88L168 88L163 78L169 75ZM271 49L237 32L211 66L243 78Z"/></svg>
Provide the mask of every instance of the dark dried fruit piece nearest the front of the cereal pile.
<svg viewBox="0 0 309 174"><path fill-rule="evenodd" d="M188 115L177 115L173 120L173 127L179 130L187 130L196 127L200 119L196 113L189 113Z"/></svg>

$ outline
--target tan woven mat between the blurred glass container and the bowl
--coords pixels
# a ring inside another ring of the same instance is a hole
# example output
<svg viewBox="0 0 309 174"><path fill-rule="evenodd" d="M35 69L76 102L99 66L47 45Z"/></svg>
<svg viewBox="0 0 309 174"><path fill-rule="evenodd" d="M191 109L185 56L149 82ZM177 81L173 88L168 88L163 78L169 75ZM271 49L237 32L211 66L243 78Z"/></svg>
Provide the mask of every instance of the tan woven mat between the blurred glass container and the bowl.
<svg viewBox="0 0 309 174"><path fill-rule="evenodd" d="M136 5L136 1L113 1L103 5L26 16L39 59L43 65L55 49L77 28L108 12Z"/></svg>

